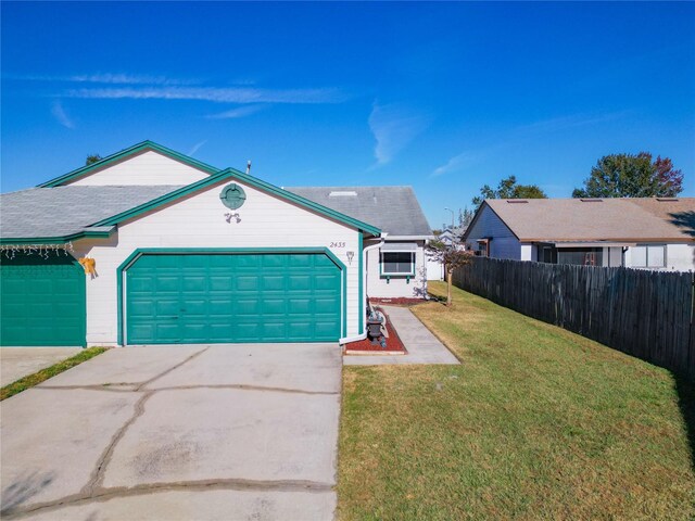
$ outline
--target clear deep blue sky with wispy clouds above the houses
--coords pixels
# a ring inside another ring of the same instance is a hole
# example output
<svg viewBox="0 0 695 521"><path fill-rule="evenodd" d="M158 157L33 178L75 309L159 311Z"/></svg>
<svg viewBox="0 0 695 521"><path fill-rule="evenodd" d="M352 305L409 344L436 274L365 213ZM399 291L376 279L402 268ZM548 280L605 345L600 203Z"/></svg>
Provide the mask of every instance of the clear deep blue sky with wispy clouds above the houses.
<svg viewBox="0 0 695 521"><path fill-rule="evenodd" d="M278 186L508 175L570 196L669 156L695 195L695 3L2 2L1 189L151 139Z"/></svg>

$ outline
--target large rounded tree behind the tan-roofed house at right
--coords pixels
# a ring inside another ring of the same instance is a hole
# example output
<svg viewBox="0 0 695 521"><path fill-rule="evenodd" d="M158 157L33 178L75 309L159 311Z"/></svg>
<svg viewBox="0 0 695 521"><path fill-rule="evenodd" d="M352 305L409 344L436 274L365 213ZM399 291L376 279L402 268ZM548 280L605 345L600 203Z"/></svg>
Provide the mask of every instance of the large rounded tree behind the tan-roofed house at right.
<svg viewBox="0 0 695 521"><path fill-rule="evenodd" d="M572 198L673 198L683 191L683 174L670 158L640 152L605 155Z"/></svg>

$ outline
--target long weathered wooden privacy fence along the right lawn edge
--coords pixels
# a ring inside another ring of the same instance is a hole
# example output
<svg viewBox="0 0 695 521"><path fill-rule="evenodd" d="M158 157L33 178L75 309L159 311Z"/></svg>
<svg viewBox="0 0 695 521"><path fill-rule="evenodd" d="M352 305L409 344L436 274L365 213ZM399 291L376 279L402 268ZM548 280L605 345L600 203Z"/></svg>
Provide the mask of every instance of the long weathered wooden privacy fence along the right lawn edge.
<svg viewBox="0 0 695 521"><path fill-rule="evenodd" d="M476 257L453 282L695 380L691 272Z"/></svg>

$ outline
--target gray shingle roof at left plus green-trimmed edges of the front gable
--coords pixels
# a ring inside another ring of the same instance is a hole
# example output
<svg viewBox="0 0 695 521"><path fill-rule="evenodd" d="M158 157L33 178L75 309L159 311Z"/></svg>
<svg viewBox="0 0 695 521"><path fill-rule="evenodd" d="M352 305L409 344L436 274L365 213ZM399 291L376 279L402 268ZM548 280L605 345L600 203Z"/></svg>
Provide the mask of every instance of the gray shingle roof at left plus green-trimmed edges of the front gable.
<svg viewBox="0 0 695 521"><path fill-rule="evenodd" d="M68 185L3 194L0 199L0 243L65 242L90 236L108 237L113 227L124 220L232 179L366 233L381 233L370 224L227 168L185 187Z"/></svg>

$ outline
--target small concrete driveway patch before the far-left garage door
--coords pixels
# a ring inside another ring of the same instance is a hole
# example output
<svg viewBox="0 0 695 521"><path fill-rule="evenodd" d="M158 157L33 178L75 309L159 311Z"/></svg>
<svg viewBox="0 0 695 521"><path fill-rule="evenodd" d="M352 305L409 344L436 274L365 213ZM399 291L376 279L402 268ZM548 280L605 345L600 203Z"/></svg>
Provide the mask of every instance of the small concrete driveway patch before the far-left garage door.
<svg viewBox="0 0 695 521"><path fill-rule="evenodd" d="M0 347L0 385L16 382L80 351L81 347Z"/></svg>

